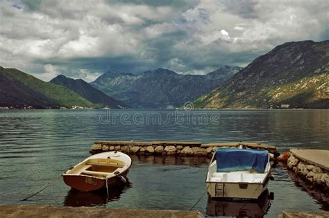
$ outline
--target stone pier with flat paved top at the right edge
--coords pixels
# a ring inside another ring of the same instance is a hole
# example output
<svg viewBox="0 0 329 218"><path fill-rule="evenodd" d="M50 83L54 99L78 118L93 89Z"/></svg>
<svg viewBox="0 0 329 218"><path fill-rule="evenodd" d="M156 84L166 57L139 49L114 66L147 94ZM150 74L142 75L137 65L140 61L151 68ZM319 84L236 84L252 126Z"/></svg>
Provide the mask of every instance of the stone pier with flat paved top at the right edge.
<svg viewBox="0 0 329 218"><path fill-rule="evenodd" d="M329 150L291 149L287 167L310 183L329 189Z"/></svg>

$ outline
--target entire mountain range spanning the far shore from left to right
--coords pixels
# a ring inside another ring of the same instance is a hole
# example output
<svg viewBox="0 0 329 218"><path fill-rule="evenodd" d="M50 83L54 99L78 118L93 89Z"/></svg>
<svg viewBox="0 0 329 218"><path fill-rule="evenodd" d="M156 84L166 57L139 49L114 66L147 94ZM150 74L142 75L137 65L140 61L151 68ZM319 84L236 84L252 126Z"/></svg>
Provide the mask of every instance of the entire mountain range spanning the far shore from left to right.
<svg viewBox="0 0 329 218"><path fill-rule="evenodd" d="M168 69L108 71L94 82L64 75L44 82L0 66L0 107L329 108L329 41L288 42L244 69L223 66L206 75Z"/></svg>

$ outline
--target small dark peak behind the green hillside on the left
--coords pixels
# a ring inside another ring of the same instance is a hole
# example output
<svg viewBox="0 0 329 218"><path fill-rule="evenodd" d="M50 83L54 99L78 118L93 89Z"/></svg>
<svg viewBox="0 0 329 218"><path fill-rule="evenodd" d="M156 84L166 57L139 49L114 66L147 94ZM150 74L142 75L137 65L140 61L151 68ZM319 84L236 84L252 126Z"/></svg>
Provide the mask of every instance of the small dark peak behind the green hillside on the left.
<svg viewBox="0 0 329 218"><path fill-rule="evenodd" d="M101 105L101 107L110 107L116 109L128 107L123 102L107 96L105 93L95 89L90 84L81 79L74 80L72 78L67 78L65 75L58 75L50 82L62 85L63 87L67 87L67 89L74 91L78 95L96 105Z"/></svg>

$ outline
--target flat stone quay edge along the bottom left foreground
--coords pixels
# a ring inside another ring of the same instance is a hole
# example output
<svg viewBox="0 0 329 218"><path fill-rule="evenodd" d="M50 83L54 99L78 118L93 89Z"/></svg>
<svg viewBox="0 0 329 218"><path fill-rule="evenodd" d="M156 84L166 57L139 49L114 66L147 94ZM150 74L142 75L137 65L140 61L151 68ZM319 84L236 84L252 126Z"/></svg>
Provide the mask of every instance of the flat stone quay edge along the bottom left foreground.
<svg viewBox="0 0 329 218"><path fill-rule="evenodd" d="M201 212L192 210L142 210L130 208L87 208L56 206L0 206L0 217L187 217L201 218Z"/></svg>

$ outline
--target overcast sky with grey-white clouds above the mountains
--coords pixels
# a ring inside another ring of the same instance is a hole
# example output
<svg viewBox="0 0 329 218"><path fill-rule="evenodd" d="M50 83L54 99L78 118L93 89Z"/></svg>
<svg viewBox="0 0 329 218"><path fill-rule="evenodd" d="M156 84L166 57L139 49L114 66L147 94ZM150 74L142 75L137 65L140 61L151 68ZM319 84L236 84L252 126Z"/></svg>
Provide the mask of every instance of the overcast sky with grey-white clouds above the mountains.
<svg viewBox="0 0 329 218"><path fill-rule="evenodd" d="M208 73L329 39L329 1L1 1L0 66L91 82L108 70Z"/></svg>

